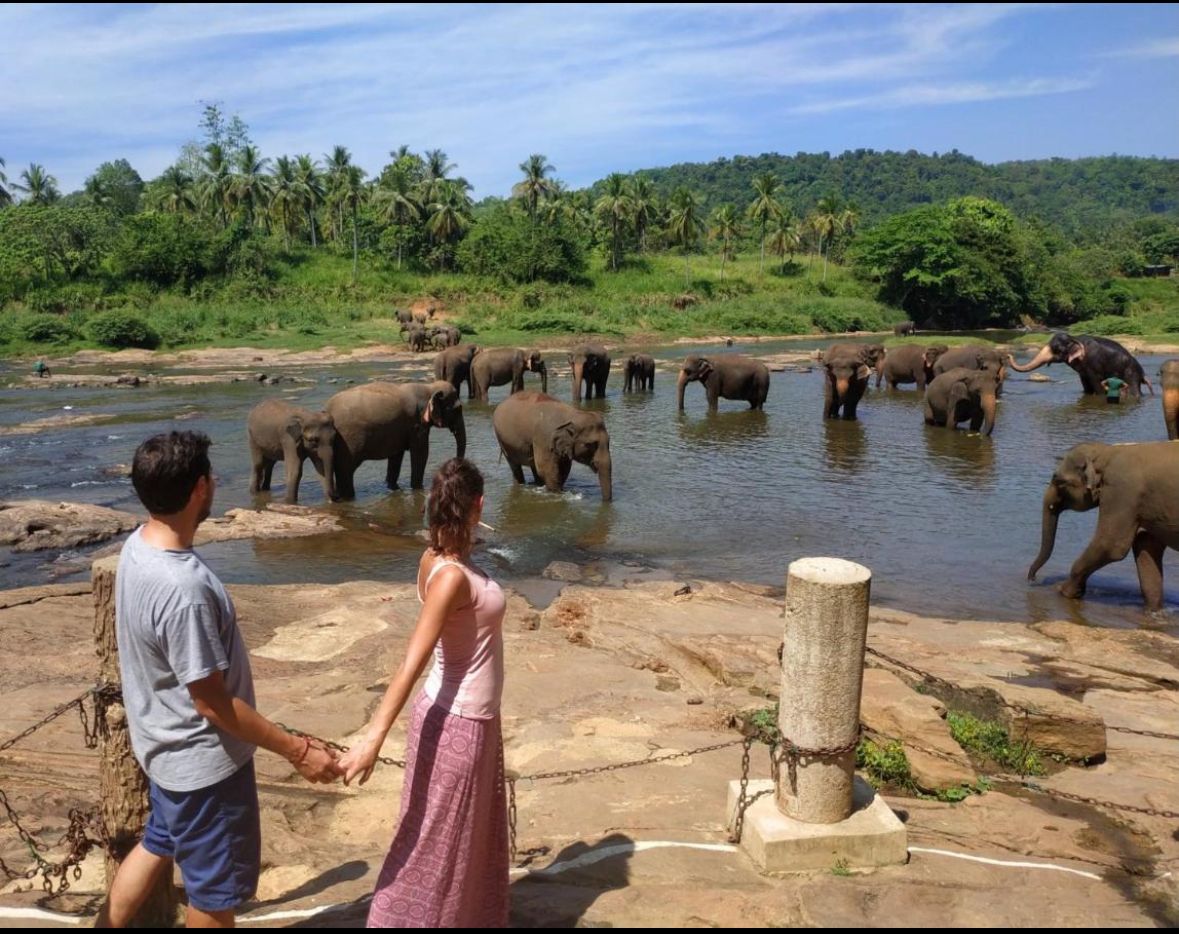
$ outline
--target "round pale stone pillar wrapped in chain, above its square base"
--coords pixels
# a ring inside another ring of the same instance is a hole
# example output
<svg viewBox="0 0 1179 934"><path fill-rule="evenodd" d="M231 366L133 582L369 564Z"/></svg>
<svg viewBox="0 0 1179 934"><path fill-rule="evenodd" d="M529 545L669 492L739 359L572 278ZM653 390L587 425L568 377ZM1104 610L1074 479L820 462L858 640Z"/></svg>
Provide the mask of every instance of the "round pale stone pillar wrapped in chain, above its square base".
<svg viewBox="0 0 1179 934"><path fill-rule="evenodd" d="M871 572L841 558L803 558L786 572L778 729L803 749L844 745L859 730ZM804 823L852 810L856 751L783 761L778 807Z"/></svg>

